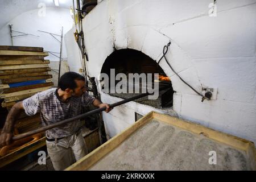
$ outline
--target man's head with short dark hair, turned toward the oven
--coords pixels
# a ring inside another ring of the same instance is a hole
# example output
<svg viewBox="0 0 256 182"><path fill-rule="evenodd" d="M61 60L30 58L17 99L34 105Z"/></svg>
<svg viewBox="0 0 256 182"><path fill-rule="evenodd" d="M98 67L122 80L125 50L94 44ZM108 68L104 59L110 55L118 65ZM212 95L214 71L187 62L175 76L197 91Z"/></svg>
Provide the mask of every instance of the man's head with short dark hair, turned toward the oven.
<svg viewBox="0 0 256 182"><path fill-rule="evenodd" d="M60 77L59 88L72 96L82 96L86 92L85 77L76 72L67 72Z"/></svg>

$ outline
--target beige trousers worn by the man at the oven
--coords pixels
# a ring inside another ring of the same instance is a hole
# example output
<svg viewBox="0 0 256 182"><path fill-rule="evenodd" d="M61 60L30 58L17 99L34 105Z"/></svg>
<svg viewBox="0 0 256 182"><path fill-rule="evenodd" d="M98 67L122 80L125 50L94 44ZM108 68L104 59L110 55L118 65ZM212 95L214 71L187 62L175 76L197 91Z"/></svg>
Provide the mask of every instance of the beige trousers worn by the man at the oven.
<svg viewBox="0 0 256 182"><path fill-rule="evenodd" d="M82 133L49 142L46 140L47 152L56 171L64 170L88 154Z"/></svg>

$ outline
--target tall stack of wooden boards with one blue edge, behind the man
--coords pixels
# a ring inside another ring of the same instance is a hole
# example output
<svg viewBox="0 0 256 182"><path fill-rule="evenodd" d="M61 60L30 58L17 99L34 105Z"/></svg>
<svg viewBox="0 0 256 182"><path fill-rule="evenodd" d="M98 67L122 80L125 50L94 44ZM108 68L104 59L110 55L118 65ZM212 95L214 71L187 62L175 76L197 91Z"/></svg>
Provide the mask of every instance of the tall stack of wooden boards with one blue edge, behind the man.
<svg viewBox="0 0 256 182"><path fill-rule="evenodd" d="M8 110L19 101L51 88L48 52L42 47L0 46L0 99ZM40 127L40 115L27 117L22 113L16 122L19 134Z"/></svg>

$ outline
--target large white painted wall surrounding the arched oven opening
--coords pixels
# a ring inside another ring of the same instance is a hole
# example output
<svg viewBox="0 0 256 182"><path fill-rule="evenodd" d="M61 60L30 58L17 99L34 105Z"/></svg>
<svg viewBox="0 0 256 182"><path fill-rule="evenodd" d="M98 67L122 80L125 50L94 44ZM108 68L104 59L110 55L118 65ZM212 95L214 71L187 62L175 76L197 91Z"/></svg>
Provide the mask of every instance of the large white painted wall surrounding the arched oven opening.
<svg viewBox="0 0 256 182"><path fill-rule="evenodd" d="M133 48L154 60L172 44L167 58L197 90L218 88L217 100L201 102L170 70L174 111L178 117L256 142L256 1L217 0L217 16L208 15L213 0L104 0L83 20L88 73L98 76L113 47ZM102 101L114 102L101 93ZM124 109L125 108L125 109ZM152 108L130 102L104 113L113 137L134 122L134 111ZM171 113L173 114L173 113Z"/></svg>

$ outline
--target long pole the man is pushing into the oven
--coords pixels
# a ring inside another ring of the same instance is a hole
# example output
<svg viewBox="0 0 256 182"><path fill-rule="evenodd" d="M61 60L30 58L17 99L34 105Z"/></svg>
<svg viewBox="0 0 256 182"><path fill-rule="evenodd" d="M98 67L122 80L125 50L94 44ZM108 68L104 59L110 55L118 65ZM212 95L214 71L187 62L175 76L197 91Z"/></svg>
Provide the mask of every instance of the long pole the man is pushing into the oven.
<svg viewBox="0 0 256 182"><path fill-rule="evenodd" d="M168 86L164 86L164 87L160 88L159 91L165 90L165 89L169 89L169 88L170 88L169 85ZM150 93L139 94L138 96L134 96L134 97L131 97L131 98L127 98L126 100L115 102L114 104L110 104L109 106L113 108L113 107L125 104L125 103L133 101L133 100L137 100L138 98L142 98L142 97L145 97L145 96L148 96L148 95L150 95ZM37 133L41 133L41 132L49 130L49 129L52 129L53 127L64 125L66 123L75 121L77 119L85 118L88 115L100 113L101 111L104 111L104 110L106 110L106 107L101 107L101 108L98 108L98 109L94 109L94 110L91 110L91 111L89 111L87 113L77 115L76 117L64 119L63 121L59 121L59 122L53 123L52 125L40 127L39 129L36 129L36 130L32 130L32 131L28 131L28 132L23 133L23 134L15 135L12 139L13 140L22 139L22 138L25 138L25 137L28 137L28 136L31 136L31 135L34 135L34 134L37 134Z"/></svg>

